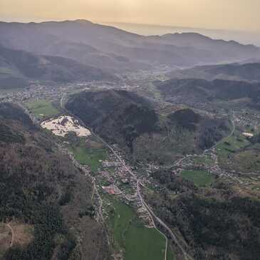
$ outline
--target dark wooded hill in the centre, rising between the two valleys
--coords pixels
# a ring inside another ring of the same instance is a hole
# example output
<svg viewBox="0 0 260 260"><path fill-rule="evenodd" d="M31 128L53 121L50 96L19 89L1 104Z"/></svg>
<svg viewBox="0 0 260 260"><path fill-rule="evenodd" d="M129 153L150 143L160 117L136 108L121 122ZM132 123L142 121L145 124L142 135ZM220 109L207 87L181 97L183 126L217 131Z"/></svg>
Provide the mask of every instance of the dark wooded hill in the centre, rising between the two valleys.
<svg viewBox="0 0 260 260"><path fill-rule="evenodd" d="M105 140L120 145L132 160L157 164L202 152L229 132L225 118L189 109L160 115L149 100L123 90L71 95L66 108Z"/></svg>

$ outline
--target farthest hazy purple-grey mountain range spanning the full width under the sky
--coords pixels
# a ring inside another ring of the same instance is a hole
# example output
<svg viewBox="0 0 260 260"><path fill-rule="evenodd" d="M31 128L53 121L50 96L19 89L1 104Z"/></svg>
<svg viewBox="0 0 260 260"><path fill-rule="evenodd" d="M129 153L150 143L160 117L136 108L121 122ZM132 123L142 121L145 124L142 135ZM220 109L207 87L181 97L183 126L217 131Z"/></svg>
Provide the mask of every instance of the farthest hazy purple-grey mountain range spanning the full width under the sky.
<svg viewBox="0 0 260 260"><path fill-rule="evenodd" d="M195 66L260 58L260 48L198 33L140 36L90 21L0 23L0 44L43 56L71 58L110 72L153 66Z"/></svg>

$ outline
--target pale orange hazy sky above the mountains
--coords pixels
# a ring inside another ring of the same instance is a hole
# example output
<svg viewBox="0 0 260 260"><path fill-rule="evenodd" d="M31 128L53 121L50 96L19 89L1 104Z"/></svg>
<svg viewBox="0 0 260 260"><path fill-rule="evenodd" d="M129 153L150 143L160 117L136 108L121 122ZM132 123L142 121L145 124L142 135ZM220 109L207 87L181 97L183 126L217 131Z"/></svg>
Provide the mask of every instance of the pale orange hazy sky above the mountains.
<svg viewBox="0 0 260 260"><path fill-rule="evenodd" d="M0 19L88 19L260 32L260 0L0 0Z"/></svg>

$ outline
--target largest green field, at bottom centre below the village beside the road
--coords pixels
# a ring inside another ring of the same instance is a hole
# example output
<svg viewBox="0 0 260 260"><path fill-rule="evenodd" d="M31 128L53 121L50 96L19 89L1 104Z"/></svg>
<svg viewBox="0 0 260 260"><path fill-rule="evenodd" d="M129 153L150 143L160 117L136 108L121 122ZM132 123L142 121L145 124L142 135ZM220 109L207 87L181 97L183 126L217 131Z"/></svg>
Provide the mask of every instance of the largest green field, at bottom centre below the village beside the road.
<svg viewBox="0 0 260 260"><path fill-rule="evenodd" d="M115 249L124 249L125 260L160 260L165 256L165 238L145 227L133 209L110 197L110 228Z"/></svg>

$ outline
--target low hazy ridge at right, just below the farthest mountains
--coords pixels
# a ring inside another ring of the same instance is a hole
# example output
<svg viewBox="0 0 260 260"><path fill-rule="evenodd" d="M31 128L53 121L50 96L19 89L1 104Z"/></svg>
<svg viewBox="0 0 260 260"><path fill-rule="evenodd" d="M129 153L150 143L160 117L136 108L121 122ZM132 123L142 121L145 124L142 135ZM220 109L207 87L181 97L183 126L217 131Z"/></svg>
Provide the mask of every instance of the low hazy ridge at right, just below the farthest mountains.
<svg viewBox="0 0 260 260"><path fill-rule="evenodd" d="M170 78L204 78L206 80L218 78L254 82L260 81L260 61L259 63L230 63L212 66L197 66L194 68L172 71L172 73L168 73L167 76Z"/></svg>

